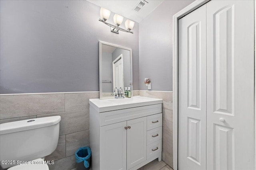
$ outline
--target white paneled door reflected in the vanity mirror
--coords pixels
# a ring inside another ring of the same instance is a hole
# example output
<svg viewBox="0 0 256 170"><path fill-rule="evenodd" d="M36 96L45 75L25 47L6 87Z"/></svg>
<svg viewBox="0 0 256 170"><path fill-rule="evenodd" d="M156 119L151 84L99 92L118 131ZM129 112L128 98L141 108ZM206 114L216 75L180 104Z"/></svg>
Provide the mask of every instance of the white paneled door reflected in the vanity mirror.
<svg viewBox="0 0 256 170"><path fill-rule="evenodd" d="M113 62L113 89L122 87L124 90L123 55L119 55Z"/></svg>

